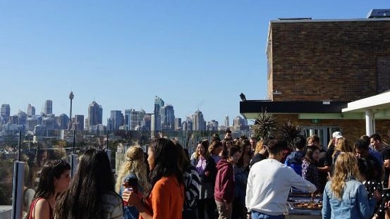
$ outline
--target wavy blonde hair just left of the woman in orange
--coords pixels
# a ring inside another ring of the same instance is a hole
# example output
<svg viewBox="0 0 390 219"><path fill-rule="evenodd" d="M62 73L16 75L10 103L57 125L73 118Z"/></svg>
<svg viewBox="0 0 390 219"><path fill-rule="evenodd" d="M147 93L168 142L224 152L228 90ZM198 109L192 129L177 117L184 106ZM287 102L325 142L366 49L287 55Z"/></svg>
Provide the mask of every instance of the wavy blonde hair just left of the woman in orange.
<svg viewBox="0 0 390 219"><path fill-rule="evenodd" d="M130 146L126 151L125 162L119 168L118 177L116 177L115 190L119 192L124 178L133 173L138 178L138 183L142 189L147 189L149 182L147 181L147 163L144 158L144 151L140 146Z"/></svg>

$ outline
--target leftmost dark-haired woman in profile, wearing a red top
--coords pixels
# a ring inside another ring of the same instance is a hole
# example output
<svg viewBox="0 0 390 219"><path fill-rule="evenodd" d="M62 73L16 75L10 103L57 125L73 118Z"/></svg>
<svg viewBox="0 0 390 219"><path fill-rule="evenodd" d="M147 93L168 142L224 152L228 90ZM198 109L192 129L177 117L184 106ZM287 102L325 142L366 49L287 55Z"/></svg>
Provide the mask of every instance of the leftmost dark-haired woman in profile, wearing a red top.
<svg viewBox="0 0 390 219"><path fill-rule="evenodd" d="M47 161L42 167L39 184L28 211L28 219L53 219L57 196L68 188L71 165L64 160Z"/></svg>

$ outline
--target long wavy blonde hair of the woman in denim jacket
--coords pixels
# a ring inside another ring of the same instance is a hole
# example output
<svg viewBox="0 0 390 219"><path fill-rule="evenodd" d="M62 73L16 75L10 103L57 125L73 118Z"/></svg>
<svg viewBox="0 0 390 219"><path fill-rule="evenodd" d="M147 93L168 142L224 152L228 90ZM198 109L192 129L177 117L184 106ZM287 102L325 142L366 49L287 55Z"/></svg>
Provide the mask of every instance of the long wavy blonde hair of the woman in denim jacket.
<svg viewBox="0 0 390 219"><path fill-rule="evenodd" d="M331 179L331 191L336 199L341 200L346 181L351 177L359 178L358 159L351 152L341 153L334 163L334 175Z"/></svg>

